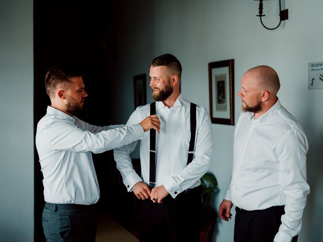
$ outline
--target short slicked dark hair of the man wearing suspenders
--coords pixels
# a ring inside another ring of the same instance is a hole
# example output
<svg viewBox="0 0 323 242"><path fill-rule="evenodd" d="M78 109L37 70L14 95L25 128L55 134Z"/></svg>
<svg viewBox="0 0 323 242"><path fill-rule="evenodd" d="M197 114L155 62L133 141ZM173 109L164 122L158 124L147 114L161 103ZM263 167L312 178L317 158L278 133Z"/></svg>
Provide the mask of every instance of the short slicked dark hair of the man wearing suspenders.
<svg viewBox="0 0 323 242"><path fill-rule="evenodd" d="M176 74L179 78L182 75L182 65L179 60L172 54L162 54L152 60L151 66L165 66L171 72L171 75Z"/></svg>

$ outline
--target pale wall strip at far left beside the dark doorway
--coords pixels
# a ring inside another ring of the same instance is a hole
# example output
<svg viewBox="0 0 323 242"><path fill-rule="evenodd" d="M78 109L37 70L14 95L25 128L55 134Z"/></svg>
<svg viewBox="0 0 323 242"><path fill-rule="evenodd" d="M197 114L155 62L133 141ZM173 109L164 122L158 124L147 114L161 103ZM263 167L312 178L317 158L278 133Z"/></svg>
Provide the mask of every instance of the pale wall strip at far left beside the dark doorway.
<svg viewBox="0 0 323 242"><path fill-rule="evenodd" d="M0 2L0 241L33 241L33 2Z"/></svg>

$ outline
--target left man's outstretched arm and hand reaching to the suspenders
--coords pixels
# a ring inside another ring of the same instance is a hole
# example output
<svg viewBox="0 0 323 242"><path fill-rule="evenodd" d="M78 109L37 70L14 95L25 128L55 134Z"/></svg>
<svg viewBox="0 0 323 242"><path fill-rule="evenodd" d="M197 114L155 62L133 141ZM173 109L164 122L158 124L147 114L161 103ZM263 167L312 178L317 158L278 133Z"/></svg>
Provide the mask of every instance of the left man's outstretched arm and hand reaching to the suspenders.
<svg viewBox="0 0 323 242"><path fill-rule="evenodd" d="M145 118L140 124L91 133L78 128L71 120L50 119L44 125L46 144L52 150L102 153L142 139L148 127L158 128L156 118Z"/></svg>

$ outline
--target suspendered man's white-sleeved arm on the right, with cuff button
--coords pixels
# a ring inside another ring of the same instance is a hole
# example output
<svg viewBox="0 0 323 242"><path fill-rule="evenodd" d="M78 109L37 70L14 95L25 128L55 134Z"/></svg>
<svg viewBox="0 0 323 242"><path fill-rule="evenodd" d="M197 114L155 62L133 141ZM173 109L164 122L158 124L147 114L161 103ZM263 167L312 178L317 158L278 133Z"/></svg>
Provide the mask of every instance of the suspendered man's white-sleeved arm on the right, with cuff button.
<svg viewBox="0 0 323 242"><path fill-rule="evenodd" d="M200 111L197 117L196 143L192 162L180 172L172 174L163 184L173 198L192 187L210 167L213 145L212 127L206 110Z"/></svg>

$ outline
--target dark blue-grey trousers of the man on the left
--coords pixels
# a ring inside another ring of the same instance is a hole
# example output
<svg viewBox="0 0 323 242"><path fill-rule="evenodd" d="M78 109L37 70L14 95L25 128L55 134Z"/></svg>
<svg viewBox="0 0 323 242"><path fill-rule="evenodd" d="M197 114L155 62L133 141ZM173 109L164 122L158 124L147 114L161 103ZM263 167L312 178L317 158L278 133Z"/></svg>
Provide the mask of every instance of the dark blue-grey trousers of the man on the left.
<svg viewBox="0 0 323 242"><path fill-rule="evenodd" d="M45 203L42 226L47 242L95 242L96 216L91 205Z"/></svg>

